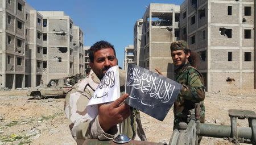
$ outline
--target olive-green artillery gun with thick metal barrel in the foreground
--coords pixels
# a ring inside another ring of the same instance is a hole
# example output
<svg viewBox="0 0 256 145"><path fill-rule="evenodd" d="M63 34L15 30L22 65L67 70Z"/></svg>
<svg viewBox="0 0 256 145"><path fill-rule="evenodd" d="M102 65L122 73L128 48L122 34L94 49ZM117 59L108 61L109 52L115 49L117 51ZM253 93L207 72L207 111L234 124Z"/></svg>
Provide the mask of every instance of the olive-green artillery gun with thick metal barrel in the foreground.
<svg viewBox="0 0 256 145"><path fill-rule="evenodd" d="M190 110L188 115L188 124L179 123L179 130L175 129L172 133L169 145L197 145L199 136L209 136L213 138L223 138L234 144L248 143L256 145L256 114L250 110L229 110L230 126L212 125L200 123L200 106L196 103L195 109ZM237 127L237 119L248 119L249 127ZM85 140L84 144L118 144L112 140L102 141L97 139ZM150 144L167 145L167 143L154 143L131 140L125 144Z"/></svg>

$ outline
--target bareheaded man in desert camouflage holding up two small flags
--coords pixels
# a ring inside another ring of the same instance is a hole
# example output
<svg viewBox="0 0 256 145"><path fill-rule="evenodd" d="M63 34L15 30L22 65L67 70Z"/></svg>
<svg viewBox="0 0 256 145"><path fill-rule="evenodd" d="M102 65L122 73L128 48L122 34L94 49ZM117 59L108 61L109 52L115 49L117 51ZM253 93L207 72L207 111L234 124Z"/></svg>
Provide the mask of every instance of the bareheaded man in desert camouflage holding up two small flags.
<svg viewBox="0 0 256 145"><path fill-rule="evenodd" d="M91 120L88 117L86 105L106 71L117 65L114 46L105 41L93 44L89 49L89 59L89 65L92 68L89 76L73 86L65 97L65 114L69 119L69 128L77 144L82 144L85 139L113 139L119 133L117 124L122 121L124 122L124 134L131 139L135 139L138 135L141 140L145 140L146 136L142 130L139 112L122 103L128 94L123 94L126 73L121 69L119 69L119 80L123 95L112 103L98 105L96 118Z"/></svg>

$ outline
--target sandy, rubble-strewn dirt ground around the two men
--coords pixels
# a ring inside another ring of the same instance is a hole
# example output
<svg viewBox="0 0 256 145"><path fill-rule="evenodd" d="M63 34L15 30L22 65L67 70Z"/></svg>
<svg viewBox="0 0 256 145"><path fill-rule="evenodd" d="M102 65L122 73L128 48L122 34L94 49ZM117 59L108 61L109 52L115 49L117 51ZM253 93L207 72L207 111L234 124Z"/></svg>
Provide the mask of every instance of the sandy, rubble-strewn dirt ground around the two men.
<svg viewBox="0 0 256 145"><path fill-rule="evenodd" d="M0 92L0 145L3 144L76 144L63 111L64 98L34 100L26 90ZM256 111L256 90L212 92L205 97L205 122L230 125L229 109ZM172 109L163 122L141 114L150 142L169 142L172 134ZM246 120L238 126L247 127ZM204 137L201 144L232 144L224 139Z"/></svg>

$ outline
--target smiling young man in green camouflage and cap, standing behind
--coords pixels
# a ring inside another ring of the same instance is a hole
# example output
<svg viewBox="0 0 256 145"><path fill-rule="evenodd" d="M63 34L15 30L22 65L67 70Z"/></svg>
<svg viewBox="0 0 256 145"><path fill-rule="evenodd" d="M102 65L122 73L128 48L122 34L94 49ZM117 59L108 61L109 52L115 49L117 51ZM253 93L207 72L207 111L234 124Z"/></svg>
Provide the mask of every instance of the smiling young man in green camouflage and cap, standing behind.
<svg viewBox="0 0 256 145"><path fill-rule="evenodd" d="M187 42L176 41L171 44L171 57L175 66L176 81L183 85L177 100L174 103L174 130L179 122L186 122L189 110L195 108L195 103L200 103L200 122L204 123L204 98L205 88L202 74L196 67L197 53L191 52ZM191 66L192 65L192 66Z"/></svg>

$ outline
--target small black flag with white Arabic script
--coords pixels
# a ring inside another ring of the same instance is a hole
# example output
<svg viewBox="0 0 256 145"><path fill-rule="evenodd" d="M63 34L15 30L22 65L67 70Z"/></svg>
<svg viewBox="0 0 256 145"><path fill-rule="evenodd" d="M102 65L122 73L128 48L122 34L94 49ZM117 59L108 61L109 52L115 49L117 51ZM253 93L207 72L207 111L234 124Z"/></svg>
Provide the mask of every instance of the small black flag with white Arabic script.
<svg viewBox="0 0 256 145"><path fill-rule="evenodd" d="M128 64L126 103L144 113L163 121L177 98L181 85L171 79Z"/></svg>

